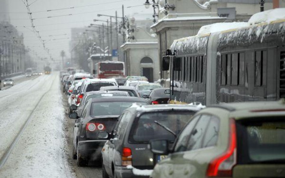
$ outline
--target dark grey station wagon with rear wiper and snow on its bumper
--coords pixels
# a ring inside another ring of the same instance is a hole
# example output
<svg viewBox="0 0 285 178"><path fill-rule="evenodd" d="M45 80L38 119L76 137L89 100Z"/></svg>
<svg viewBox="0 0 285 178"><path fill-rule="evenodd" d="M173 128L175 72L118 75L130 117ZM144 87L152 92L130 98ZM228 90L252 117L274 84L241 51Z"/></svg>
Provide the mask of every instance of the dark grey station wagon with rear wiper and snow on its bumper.
<svg viewBox="0 0 285 178"><path fill-rule="evenodd" d="M166 155L154 155L150 140L164 138L171 145L184 125L201 110L197 105L133 105L124 110L102 149L103 178L147 178Z"/></svg>

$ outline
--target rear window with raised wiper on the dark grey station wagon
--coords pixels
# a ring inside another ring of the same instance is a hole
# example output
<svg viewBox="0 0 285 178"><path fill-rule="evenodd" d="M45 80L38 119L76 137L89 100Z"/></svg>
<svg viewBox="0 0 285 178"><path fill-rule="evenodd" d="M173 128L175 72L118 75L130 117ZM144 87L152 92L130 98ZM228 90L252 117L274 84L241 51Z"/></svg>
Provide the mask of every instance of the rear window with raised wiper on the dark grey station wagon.
<svg viewBox="0 0 285 178"><path fill-rule="evenodd" d="M175 136L163 126L178 135L194 114L194 111L160 111L142 114L135 119L129 140L133 143L149 143L149 140L156 138L173 141Z"/></svg>

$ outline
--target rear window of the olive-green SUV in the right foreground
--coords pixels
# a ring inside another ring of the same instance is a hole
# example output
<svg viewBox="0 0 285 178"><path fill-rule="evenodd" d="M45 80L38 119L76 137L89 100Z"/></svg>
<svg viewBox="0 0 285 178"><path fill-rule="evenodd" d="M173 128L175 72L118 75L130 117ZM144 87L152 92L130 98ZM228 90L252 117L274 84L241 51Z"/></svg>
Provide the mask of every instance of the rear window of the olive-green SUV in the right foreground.
<svg viewBox="0 0 285 178"><path fill-rule="evenodd" d="M285 163L285 121L246 119L237 123L239 164Z"/></svg>

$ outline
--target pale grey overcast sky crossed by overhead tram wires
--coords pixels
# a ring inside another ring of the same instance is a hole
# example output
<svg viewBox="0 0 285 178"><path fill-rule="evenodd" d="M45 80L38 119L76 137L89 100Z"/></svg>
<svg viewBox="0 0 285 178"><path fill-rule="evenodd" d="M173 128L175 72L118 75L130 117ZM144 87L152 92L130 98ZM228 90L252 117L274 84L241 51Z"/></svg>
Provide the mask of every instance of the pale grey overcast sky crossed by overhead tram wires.
<svg viewBox="0 0 285 178"><path fill-rule="evenodd" d="M8 0L11 23L17 26L19 32L24 34L24 43L34 51L32 53L37 53L41 57L48 57L39 39L31 31L31 23L26 14L27 8L23 1L26 0ZM35 28L39 31L42 39L46 41L46 47L50 49L51 56L55 60L60 59L61 50L65 50L66 55L70 56L69 41L72 27L88 26L93 23L95 18L106 20L107 17L97 17L97 14L115 16L117 10L118 16L122 16L122 5L125 7L125 15L152 14L152 8L145 9L142 5L144 2L145 0L28 0L32 17L35 19ZM136 7L127 8L128 6ZM47 12L47 10L56 11ZM151 19L152 17L151 15L145 15L145 18Z"/></svg>

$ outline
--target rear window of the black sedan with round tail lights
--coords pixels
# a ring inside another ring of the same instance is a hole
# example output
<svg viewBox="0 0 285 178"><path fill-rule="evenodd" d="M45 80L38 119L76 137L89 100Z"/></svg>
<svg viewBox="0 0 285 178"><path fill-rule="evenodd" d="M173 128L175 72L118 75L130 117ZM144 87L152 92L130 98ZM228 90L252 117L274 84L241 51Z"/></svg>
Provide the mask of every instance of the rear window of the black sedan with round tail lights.
<svg viewBox="0 0 285 178"><path fill-rule="evenodd" d="M146 102L136 101L110 101L92 103L90 116L106 116L106 115L120 115L123 110L130 107L133 103L146 105Z"/></svg>

